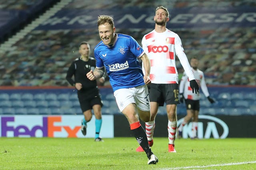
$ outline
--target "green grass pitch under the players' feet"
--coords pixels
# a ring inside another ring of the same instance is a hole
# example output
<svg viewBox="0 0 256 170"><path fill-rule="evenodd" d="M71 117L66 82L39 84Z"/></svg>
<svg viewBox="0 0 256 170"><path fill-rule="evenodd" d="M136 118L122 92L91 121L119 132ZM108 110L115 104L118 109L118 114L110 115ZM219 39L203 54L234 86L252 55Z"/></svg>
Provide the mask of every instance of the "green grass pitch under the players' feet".
<svg viewBox="0 0 256 170"><path fill-rule="evenodd" d="M94 142L93 138L2 137L0 169L256 169L256 138L176 139L175 144L177 153L169 153L168 138L154 138L152 151L159 162L147 165L146 154L135 151L139 145L133 137L105 138L104 142Z"/></svg>

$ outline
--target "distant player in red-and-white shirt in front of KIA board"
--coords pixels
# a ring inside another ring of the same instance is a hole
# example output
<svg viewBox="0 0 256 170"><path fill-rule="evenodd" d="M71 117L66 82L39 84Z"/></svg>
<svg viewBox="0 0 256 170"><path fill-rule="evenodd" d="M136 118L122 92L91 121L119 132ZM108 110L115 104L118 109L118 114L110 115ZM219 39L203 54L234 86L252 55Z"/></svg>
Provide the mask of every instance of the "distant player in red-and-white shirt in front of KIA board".
<svg viewBox="0 0 256 170"><path fill-rule="evenodd" d="M205 97L210 101L210 103L214 103L215 101L210 97L205 80L204 80L204 73L198 69L198 59L193 57L190 60L190 65L193 68L192 71L196 78L197 83L200 85L202 92L204 93ZM180 80L180 102L183 103L185 99L187 115L184 117L183 122L180 124L178 128L178 138L182 137L182 128L193 118L192 121L192 136L191 138L197 138L197 127L198 127L198 114L200 109L200 94L192 93L192 89L189 86L188 76L186 73L183 73L183 76Z"/></svg>

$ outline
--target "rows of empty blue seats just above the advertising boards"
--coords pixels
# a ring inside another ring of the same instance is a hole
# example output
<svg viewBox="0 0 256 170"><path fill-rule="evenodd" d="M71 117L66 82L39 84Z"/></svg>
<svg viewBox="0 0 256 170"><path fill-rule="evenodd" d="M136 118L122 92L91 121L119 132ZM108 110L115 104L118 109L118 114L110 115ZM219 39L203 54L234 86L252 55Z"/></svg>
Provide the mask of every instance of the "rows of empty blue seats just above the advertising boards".
<svg viewBox="0 0 256 170"><path fill-rule="evenodd" d="M119 114L115 97L112 91L107 93L101 90L105 97L102 97L104 106L102 114ZM200 114L208 115L256 115L256 99L254 92L237 92L224 90L222 93L211 93L216 99L216 103L211 104L206 98L200 99ZM67 97L67 95L69 97ZM213 95L214 94L214 95ZM243 99L240 96L243 94ZM80 114L80 103L76 93L67 93L63 91L41 91L34 92L20 91L17 93L0 93L0 113L6 114L42 114L42 115L65 115ZM12 101L7 100L12 96ZM48 96L48 99L46 99ZM50 96L50 97L49 97ZM60 97L62 96L62 97ZM73 97L70 97L73 96ZM32 99L32 100L30 100ZM34 113L33 113L34 112ZM166 115L166 106L159 107L158 114ZM184 103L177 105L177 115L186 115L186 106Z"/></svg>

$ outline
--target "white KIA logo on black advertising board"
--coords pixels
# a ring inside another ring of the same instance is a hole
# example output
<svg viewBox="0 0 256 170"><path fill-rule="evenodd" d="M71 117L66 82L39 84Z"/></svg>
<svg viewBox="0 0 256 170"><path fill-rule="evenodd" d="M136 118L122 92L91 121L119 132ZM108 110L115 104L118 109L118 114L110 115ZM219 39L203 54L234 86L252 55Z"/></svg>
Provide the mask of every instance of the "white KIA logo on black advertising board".
<svg viewBox="0 0 256 170"><path fill-rule="evenodd" d="M208 115L198 115L198 129L197 129L197 136L198 138L210 138L210 136L212 135L213 138L220 138L220 139L224 139L228 136L228 125L213 116L208 116ZM204 127L203 123L200 122L200 119L205 119L208 120L207 122L207 126ZM182 123L183 118L178 120L177 122L177 127ZM223 128L223 133L220 135L217 128L216 128L216 124L219 124L222 128ZM183 128L182 128L182 138L188 138L192 136L192 123L186 124ZM204 132L205 129L205 132Z"/></svg>

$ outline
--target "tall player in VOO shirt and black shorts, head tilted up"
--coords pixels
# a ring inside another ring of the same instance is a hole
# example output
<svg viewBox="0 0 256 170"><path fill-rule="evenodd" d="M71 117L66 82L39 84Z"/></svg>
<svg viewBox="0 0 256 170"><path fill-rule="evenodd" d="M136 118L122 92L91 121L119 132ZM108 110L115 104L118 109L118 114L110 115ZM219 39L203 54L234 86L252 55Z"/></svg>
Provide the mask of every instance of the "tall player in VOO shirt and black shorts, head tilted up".
<svg viewBox="0 0 256 170"><path fill-rule="evenodd" d="M169 21L168 10L163 6L158 6L155 11L154 21L156 23L155 29L142 38L142 48L150 58L150 79L152 82L149 89L151 119L150 122L146 123L146 134L148 143L152 146L158 107L164 106L164 103L166 103L168 152L176 152L174 149L177 128L176 107L177 104L180 104L178 98L178 71L175 64L176 55L189 77L193 92L197 93L199 87L184 53L180 37L166 28L166 22ZM139 146L136 151L142 152L143 149Z"/></svg>

